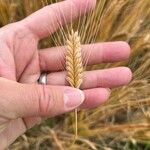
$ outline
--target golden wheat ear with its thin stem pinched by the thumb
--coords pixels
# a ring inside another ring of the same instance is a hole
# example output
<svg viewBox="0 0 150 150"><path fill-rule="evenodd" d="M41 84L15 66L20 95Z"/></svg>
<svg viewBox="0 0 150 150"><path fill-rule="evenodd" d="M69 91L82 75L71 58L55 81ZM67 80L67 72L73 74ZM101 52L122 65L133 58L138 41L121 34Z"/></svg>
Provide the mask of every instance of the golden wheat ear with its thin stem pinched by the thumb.
<svg viewBox="0 0 150 150"><path fill-rule="evenodd" d="M71 31L67 39L66 52L66 80L74 88L80 88L83 82L83 63L81 54L81 43L78 32ZM78 136L77 109L75 110L75 140Z"/></svg>

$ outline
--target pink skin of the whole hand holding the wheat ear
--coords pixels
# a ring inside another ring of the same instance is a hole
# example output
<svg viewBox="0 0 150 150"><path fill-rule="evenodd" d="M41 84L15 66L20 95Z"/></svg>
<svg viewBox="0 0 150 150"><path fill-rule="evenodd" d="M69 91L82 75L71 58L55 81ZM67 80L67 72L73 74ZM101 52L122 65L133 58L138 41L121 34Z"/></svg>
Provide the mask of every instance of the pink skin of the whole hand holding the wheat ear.
<svg viewBox="0 0 150 150"><path fill-rule="evenodd" d="M64 47L38 49L39 40L59 28L57 22L65 23L63 17L58 19L58 13L63 12L69 22L70 8L73 9L73 18L76 18L85 12L85 4L89 11L95 3L94 0L66 0L0 29L0 126L4 127L0 132L1 149L40 123L42 117L54 117L77 107L98 107L109 98L110 88L131 81L132 73L126 67L85 72L82 85L84 101L79 102L79 91L67 86L66 73L57 63L61 59L60 53L65 52ZM83 45L82 49L85 55L92 49L88 61L90 65L122 61L130 55L130 47L125 42L96 43L92 48L91 45ZM51 72L48 74L48 85L37 84L43 71ZM69 99L70 104L66 106L64 93L72 93L70 96L76 98L74 102Z"/></svg>

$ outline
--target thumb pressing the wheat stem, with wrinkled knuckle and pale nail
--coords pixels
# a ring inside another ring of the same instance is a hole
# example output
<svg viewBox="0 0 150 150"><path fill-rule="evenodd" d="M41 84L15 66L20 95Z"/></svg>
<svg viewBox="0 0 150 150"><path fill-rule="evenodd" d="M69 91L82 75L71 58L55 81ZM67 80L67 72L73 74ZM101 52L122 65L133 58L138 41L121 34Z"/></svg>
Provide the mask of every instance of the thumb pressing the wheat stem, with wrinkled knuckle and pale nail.
<svg viewBox="0 0 150 150"><path fill-rule="evenodd" d="M0 78L0 114L8 119L53 117L83 101L83 92L71 87L20 84Z"/></svg>

